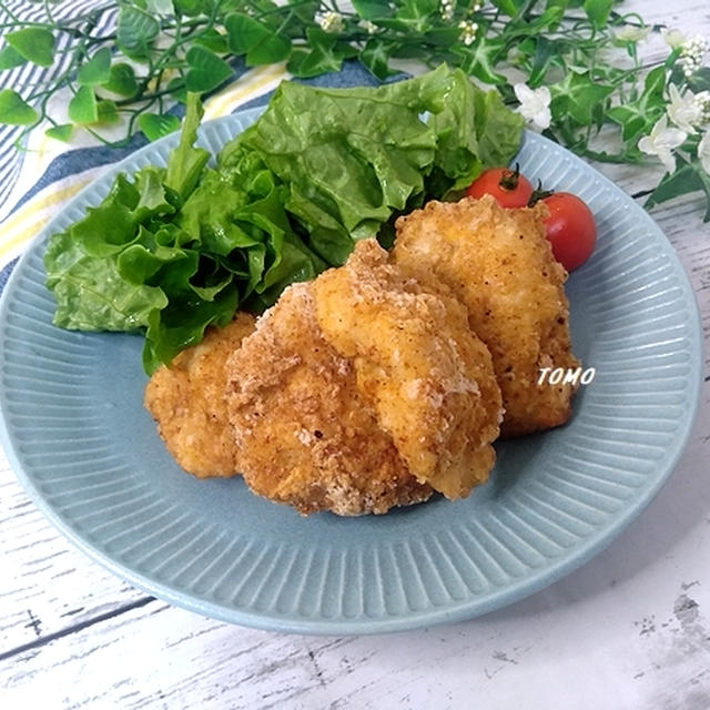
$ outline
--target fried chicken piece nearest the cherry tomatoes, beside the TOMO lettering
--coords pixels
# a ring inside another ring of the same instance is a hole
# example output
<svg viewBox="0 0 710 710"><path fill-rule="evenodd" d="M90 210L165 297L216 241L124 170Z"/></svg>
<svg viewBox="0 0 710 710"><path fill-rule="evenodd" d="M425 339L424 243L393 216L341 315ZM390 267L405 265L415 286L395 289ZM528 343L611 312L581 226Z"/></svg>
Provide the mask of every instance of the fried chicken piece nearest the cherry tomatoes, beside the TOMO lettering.
<svg viewBox="0 0 710 710"><path fill-rule="evenodd" d="M558 426L571 412L572 385L538 385L540 368L579 365L562 287L567 272L545 237L544 209L505 210L486 195L432 201L396 222L395 262L433 288L448 286L490 349L504 436Z"/></svg>

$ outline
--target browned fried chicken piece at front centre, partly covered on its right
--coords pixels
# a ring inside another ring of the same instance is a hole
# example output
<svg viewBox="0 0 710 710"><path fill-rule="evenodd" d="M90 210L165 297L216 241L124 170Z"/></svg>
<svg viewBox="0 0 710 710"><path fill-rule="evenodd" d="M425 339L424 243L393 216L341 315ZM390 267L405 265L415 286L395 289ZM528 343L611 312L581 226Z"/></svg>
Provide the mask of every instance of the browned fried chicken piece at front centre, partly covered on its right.
<svg viewBox="0 0 710 710"><path fill-rule="evenodd" d="M313 283L287 287L227 364L230 420L254 493L301 514L386 513L426 500L362 397L352 363L323 337Z"/></svg>

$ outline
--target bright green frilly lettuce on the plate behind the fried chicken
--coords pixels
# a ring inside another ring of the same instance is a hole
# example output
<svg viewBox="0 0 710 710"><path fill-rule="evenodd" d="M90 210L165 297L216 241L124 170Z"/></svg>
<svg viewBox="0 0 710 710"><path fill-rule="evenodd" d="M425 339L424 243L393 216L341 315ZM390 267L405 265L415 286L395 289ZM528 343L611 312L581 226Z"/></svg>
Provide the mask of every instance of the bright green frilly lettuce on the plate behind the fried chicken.
<svg viewBox="0 0 710 710"><path fill-rule="evenodd" d="M145 333L152 373L290 283L342 264L356 240L515 154L523 121L446 67L379 88L283 82L216 168L195 146L190 95L165 168L119 175L103 202L49 240L54 323Z"/></svg>

